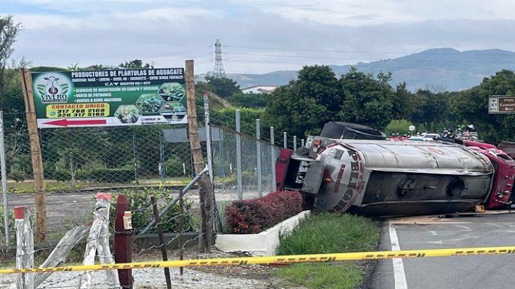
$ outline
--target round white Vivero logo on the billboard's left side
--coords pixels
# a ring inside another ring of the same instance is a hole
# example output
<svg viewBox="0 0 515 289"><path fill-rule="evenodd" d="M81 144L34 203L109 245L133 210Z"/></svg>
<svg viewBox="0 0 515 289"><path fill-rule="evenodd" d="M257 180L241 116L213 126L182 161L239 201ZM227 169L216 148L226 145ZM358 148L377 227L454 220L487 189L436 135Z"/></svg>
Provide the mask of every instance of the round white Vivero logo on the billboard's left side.
<svg viewBox="0 0 515 289"><path fill-rule="evenodd" d="M59 74L43 74L36 81L41 103L66 103L71 83Z"/></svg>

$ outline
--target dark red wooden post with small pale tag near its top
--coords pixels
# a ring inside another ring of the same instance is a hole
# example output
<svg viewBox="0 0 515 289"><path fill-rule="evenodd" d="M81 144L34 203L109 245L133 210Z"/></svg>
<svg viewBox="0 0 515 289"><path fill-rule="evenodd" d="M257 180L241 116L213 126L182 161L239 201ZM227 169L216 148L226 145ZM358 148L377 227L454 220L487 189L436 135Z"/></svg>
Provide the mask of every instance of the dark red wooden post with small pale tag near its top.
<svg viewBox="0 0 515 289"><path fill-rule="evenodd" d="M114 218L114 261L116 263L132 262L132 226L124 224L129 218L130 208L127 196L120 194L117 199L117 216ZM125 215L127 212L127 216ZM130 227L130 228L128 228ZM122 288L132 289L132 270L118 269L118 278Z"/></svg>

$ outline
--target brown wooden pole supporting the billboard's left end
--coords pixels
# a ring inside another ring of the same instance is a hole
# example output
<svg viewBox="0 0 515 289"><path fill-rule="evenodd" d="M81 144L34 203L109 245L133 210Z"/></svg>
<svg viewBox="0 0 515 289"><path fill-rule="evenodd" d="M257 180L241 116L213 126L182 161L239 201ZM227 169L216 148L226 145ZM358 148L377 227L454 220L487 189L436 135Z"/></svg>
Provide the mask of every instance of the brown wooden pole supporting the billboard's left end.
<svg viewBox="0 0 515 289"><path fill-rule="evenodd" d="M41 144L37 130L36 107L32 94L32 78L28 69L20 69L21 85L23 87L23 100L25 100L25 114L30 137L30 156L32 158L32 172L34 173L34 191L36 193L36 242L46 239L46 201L45 184L43 180L43 160L41 159Z"/></svg>

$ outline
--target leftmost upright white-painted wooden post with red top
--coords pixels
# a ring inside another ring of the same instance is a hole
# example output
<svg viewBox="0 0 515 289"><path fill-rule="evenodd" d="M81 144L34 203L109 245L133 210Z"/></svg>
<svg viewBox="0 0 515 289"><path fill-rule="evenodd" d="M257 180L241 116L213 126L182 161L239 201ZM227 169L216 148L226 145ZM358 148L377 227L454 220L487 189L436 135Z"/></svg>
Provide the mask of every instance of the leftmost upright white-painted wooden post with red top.
<svg viewBox="0 0 515 289"><path fill-rule="evenodd" d="M16 268L34 267L34 233L30 208L14 207L14 226L16 226ZM16 277L18 289L34 288L34 273L18 273Z"/></svg>

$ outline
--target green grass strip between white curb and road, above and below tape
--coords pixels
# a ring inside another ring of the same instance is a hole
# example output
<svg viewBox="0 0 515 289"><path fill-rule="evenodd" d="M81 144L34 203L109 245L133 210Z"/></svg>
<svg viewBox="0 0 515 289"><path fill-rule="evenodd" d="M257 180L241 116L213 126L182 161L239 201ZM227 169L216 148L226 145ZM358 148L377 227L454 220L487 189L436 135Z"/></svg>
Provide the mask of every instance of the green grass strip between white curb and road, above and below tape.
<svg viewBox="0 0 515 289"><path fill-rule="evenodd" d="M378 222L350 214L319 213L281 236L277 255L347 253L374 250L381 237ZM292 264L277 271L288 285L306 288L356 288L363 281L356 262Z"/></svg>

